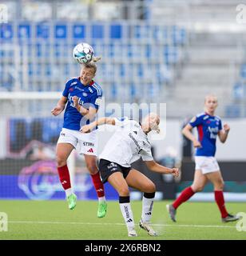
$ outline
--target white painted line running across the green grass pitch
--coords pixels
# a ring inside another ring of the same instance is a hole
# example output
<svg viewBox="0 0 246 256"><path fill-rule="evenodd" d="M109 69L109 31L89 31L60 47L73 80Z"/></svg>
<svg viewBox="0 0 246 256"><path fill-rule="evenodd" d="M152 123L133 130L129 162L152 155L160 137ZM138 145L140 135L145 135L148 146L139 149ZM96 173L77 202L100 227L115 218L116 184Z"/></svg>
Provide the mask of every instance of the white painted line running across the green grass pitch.
<svg viewBox="0 0 246 256"><path fill-rule="evenodd" d="M35 221L10 221L9 223L17 223L17 224L67 224L67 225L117 225L117 226L125 226L125 223L99 223L99 222L35 222ZM136 226L138 224L135 224ZM228 229L236 229L235 226L219 226L219 225L185 225L185 224L152 224L152 226L177 226L177 227L205 227L205 228L228 228Z"/></svg>

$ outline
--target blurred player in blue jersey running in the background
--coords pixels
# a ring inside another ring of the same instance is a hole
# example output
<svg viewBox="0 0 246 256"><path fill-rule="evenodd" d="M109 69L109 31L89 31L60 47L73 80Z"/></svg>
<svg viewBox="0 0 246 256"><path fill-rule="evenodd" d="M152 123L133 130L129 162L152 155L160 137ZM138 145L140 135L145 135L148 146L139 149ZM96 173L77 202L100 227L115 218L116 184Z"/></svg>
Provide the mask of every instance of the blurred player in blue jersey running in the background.
<svg viewBox="0 0 246 256"><path fill-rule="evenodd" d="M215 201L219 207L222 222L234 222L239 219L232 214L228 214L224 205L224 181L215 158L216 136L219 136L220 142L226 142L230 127L225 123L224 128L222 128L220 118L215 115L217 106L216 96L206 96L204 101L205 112L197 114L182 130L185 137L190 139L197 149L195 156L196 169L192 186L183 190L173 204L167 205L169 216L173 222L176 222L177 208L181 203L186 202L196 192L203 190L208 181L213 184ZM198 130L198 140L191 132L194 127L197 127Z"/></svg>

